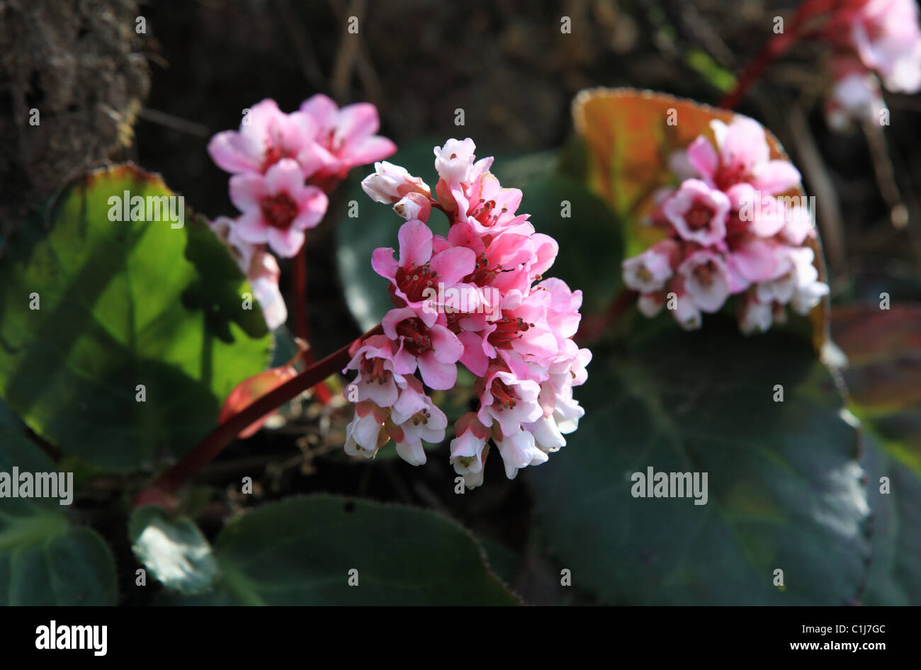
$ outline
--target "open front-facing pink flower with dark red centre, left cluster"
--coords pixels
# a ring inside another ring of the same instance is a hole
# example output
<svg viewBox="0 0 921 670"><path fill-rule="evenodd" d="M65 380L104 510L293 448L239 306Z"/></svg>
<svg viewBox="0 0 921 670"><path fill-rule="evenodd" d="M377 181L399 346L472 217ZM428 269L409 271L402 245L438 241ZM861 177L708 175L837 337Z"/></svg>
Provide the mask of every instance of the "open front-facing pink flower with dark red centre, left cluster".
<svg viewBox="0 0 921 670"><path fill-rule="evenodd" d="M304 244L304 231L326 213L326 194L306 186L297 162L282 158L265 175L230 178L230 200L243 214L235 232L251 244L268 243L279 256L290 258Z"/></svg>

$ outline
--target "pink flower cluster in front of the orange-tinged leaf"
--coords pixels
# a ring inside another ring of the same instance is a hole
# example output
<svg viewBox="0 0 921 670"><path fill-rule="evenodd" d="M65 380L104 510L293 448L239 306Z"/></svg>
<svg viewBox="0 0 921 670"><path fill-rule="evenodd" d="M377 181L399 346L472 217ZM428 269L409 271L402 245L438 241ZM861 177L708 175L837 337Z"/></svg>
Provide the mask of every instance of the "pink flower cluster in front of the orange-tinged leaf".
<svg viewBox="0 0 921 670"><path fill-rule="evenodd" d="M813 267L810 211L796 196L799 171L771 160L764 129L745 117L711 121L717 146L701 135L672 157L683 178L658 194L651 225L667 237L624 260L624 283L640 294L639 309L655 316L668 304L685 329L700 328L703 312L717 312L742 294L745 333L786 318L790 305L807 314L828 293Z"/></svg>

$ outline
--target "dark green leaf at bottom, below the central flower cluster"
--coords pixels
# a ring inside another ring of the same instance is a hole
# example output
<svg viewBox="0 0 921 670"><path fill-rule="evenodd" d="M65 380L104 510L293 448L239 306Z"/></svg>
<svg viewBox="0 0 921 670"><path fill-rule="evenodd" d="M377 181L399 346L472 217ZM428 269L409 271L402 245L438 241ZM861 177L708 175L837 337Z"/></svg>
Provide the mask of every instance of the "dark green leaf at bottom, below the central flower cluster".
<svg viewBox="0 0 921 670"><path fill-rule="evenodd" d="M227 523L216 589L170 605L518 605L483 549L439 514L331 495L289 498ZM351 572L357 571L357 572ZM356 576L356 586L349 585Z"/></svg>

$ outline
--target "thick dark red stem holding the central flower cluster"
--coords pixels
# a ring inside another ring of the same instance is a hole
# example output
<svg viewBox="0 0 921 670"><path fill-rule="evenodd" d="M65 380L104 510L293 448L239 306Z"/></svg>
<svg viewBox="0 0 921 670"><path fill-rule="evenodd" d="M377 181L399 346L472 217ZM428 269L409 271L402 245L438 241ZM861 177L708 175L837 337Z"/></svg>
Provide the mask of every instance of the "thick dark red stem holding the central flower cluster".
<svg viewBox="0 0 921 670"><path fill-rule="evenodd" d="M362 341L379 332L381 332L381 327L378 325L368 330L356 341ZM174 508L175 501L172 499L172 494L179 491L182 485L191 479L195 473L220 454L224 447L230 444L240 431L269 412L276 410L288 400L297 397L308 388L316 386L337 370L344 368L351 358L349 349L354 343L349 342L342 349L332 352L319 363L310 365L302 373L292 377L280 387L274 388L262 398L253 400L251 404L218 425L191 452L183 456L172 468L169 468L167 472L138 493L134 499L135 506L155 503L169 509Z"/></svg>

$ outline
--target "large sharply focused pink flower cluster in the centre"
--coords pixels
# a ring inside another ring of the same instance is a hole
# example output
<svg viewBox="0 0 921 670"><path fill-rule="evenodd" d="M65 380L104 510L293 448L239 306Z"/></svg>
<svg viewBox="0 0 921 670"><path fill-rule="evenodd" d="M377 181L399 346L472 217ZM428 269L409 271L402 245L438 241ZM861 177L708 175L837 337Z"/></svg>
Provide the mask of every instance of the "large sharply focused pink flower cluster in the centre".
<svg viewBox="0 0 921 670"><path fill-rule="evenodd" d="M469 488L483 482L490 440L509 479L565 445L583 414L573 387L585 382L591 358L572 339L581 292L542 277L556 242L517 214L521 191L502 188L489 172L493 159L475 160L474 148L469 138L435 148L434 197L422 179L386 162L362 182L406 223L399 257L392 248L372 257L394 305L383 334L356 343L346 367L357 373L346 389L356 401L346 453L372 457L392 439L413 465L426 462L422 441L441 442L448 426L426 387L454 387L459 363L470 370L479 407L455 423L450 443ZM433 208L448 216L447 237L426 225Z"/></svg>

